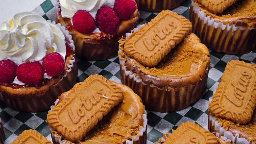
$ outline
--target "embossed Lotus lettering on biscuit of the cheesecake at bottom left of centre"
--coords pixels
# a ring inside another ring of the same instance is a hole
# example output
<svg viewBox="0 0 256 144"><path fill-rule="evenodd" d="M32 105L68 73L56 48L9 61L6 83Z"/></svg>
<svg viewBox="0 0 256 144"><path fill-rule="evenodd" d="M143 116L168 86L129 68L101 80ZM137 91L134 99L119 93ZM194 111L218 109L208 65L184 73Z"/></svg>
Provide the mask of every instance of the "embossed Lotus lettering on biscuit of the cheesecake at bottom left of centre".
<svg viewBox="0 0 256 144"><path fill-rule="evenodd" d="M85 116L86 110L90 111L93 108L93 105L96 105L100 101L100 99L107 98L104 95L103 89L98 90L96 93L98 95L92 95L88 98L84 98L83 96L80 97L81 103L79 107L76 109L77 116L74 116L74 113L72 112L71 108L67 108L68 116L74 124L80 122L81 118Z"/></svg>

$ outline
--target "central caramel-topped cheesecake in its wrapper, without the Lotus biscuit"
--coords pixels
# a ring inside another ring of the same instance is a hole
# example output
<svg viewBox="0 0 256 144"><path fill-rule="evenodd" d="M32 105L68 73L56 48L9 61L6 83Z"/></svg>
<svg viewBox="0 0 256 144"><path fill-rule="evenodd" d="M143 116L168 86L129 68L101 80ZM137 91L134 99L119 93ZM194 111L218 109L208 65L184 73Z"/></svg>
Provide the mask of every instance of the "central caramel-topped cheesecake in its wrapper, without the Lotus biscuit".
<svg viewBox="0 0 256 144"><path fill-rule="evenodd" d="M142 98L146 109L179 111L202 96L210 54L194 33L187 35L154 67L146 67L127 56L123 51L126 39L120 40L121 81Z"/></svg>

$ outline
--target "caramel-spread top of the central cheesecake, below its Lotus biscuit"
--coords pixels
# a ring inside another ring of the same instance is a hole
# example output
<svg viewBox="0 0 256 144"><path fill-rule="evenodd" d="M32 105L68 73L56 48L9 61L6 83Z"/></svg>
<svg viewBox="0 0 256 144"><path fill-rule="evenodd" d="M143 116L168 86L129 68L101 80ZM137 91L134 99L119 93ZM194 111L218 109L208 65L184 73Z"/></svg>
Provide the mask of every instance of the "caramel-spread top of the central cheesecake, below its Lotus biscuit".
<svg viewBox="0 0 256 144"><path fill-rule="evenodd" d="M190 33L154 67L145 67L125 53L120 57L126 60L126 68L138 73L144 83L160 88L179 88L196 84L206 76L209 55L207 47Z"/></svg>

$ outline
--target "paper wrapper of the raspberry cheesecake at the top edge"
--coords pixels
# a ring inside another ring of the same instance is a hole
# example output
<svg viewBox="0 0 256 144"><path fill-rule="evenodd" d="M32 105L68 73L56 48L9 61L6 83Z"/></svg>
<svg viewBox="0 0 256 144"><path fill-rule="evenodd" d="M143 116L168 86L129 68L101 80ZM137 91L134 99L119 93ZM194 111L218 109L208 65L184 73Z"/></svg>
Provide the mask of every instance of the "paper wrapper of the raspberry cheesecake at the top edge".
<svg viewBox="0 0 256 144"><path fill-rule="evenodd" d="M56 9L56 22L60 23L62 26L67 27L67 23L63 18L58 14L59 12L59 1L57 1ZM136 27L137 24L134 24ZM134 28L132 27L132 29ZM85 60L106 60L117 56L118 52L118 38L111 39L106 42L91 42L88 39L77 36L75 32L70 32L74 45L76 47L76 56L77 58Z"/></svg>

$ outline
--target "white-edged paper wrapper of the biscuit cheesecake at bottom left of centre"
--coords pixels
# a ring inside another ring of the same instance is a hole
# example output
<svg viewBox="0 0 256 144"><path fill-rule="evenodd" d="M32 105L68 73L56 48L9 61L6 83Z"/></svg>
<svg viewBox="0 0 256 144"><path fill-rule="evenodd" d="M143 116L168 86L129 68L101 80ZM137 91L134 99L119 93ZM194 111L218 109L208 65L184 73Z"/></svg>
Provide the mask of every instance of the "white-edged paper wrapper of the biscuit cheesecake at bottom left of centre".
<svg viewBox="0 0 256 144"><path fill-rule="evenodd" d="M56 105L58 102L59 102L59 99L57 99L54 102L54 105ZM51 110L53 109L54 105L51 106ZM144 110L144 114L142 115L142 117L144 119L144 123L143 123L143 127L139 129L138 135L133 136L132 140L126 140L125 143L123 144L146 144L147 143L147 125L148 125L147 111ZM51 132L51 139L53 140L53 144L73 144L70 141L62 139L61 136L56 135L55 131L51 127L50 127L50 132Z"/></svg>

